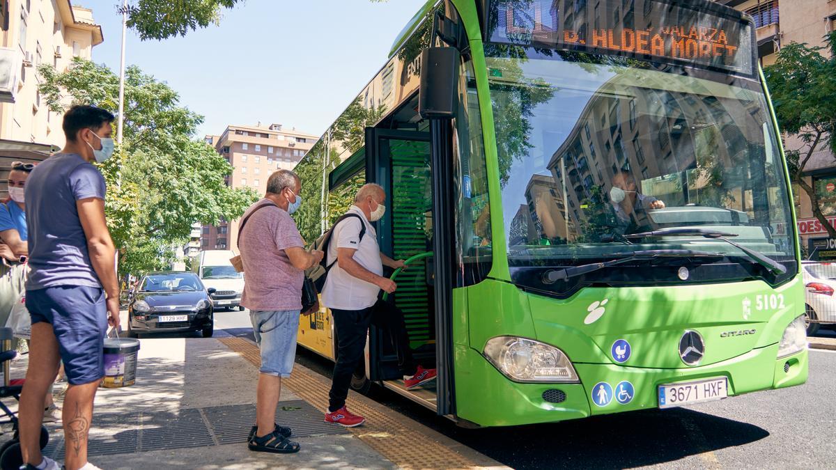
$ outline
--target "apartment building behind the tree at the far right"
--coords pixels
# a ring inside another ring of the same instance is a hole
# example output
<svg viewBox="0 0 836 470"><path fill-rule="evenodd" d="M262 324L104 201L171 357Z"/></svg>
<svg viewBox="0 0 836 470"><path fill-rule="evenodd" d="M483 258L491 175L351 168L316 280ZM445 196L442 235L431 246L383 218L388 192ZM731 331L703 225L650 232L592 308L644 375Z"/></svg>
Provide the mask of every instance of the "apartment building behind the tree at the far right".
<svg viewBox="0 0 836 470"><path fill-rule="evenodd" d="M752 15L757 27L757 54L763 67L775 63L782 45L808 43L823 46L824 36L836 31L836 0L718 0ZM788 148L801 148L797 139L785 140ZM836 226L836 156L827 145L820 146L805 166L808 183L816 188L822 208ZM836 240L813 217L806 192L793 187L801 243L813 259L836 259Z"/></svg>

